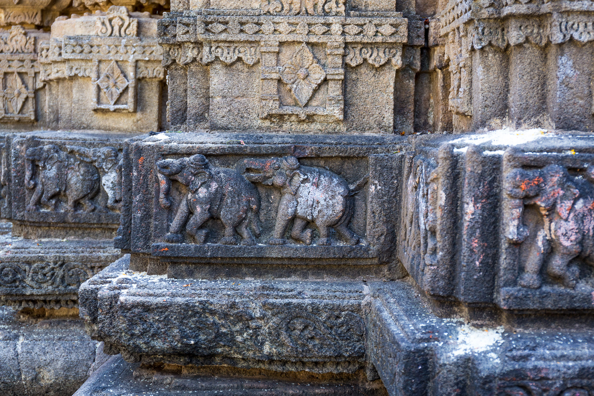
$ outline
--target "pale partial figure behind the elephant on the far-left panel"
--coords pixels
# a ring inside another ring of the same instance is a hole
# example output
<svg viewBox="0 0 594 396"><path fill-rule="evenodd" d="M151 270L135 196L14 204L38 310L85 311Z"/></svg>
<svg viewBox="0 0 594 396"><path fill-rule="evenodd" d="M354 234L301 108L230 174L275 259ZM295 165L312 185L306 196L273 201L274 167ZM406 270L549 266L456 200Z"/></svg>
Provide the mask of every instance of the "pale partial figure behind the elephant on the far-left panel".
<svg viewBox="0 0 594 396"><path fill-rule="evenodd" d="M119 209L118 201L118 175L116 167L118 166L118 149L115 147L86 148L80 146L66 146L68 153L74 155L85 162L94 165L101 175L101 185L108 194L108 208L112 210Z"/></svg>

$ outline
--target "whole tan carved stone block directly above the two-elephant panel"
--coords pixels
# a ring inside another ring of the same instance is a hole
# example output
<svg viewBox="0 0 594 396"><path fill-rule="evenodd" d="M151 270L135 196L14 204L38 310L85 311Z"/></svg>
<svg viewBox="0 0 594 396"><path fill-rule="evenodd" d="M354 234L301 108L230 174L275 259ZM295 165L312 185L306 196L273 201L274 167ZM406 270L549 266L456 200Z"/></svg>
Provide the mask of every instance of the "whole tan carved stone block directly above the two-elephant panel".
<svg viewBox="0 0 594 396"><path fill-rule="evenodd" d="M272 1L254 11L229 4L233 9L168 14L159 21L159 43L176 81L169 88L172 127L400 129L399 117L413 109L412 97L400 103L394 94L409 84L402 69L407 19L383 6L348 11L343 1Z"/></svg>

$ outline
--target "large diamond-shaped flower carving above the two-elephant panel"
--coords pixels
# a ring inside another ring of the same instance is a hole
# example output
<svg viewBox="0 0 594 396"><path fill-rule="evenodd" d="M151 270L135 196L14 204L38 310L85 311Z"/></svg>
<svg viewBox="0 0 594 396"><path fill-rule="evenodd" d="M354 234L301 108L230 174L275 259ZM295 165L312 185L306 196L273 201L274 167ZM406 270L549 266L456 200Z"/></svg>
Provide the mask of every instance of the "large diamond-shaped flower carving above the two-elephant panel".
<svg viewBox="0 0 594 396"><path fill-rule="evenodd" d="M283 83L290 84L293 96L299 106L303 107L326 78L326 72L309 47L303 43L293 54L293 58L280 69L280 78Z"/></svg>

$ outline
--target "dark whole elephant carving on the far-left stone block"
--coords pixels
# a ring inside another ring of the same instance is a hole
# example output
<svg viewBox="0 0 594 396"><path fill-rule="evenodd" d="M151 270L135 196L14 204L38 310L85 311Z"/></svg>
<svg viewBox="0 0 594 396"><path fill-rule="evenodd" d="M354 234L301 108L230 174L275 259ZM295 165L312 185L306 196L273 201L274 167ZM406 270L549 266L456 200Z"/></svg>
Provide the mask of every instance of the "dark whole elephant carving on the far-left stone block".
<svg viewBox="0 0 594 396"><path fill-rule="evenodd" d="M68 211L74 211L78 203L83 205L85 212L95 210L91 199L100 188L96 167L70 156L55 144L28 148L25 159L25 186L35 189L27 211L36 211L38 204L54 211L61 194L68 197ZM39 166L37 178L34 178L34 164Z"/></svg>

